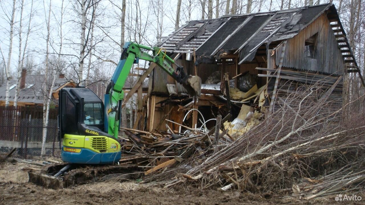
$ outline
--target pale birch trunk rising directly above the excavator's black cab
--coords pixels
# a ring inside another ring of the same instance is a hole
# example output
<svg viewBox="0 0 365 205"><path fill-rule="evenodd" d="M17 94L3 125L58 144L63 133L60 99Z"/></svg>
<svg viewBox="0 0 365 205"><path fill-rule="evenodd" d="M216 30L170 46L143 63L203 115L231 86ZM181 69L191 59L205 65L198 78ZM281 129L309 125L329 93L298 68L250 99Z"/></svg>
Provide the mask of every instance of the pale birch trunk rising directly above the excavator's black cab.
<svg viewBox="0 0 365 205"><path fill-rule="evenodd" d="M85 58L85 30L86 30L86 0L81 0L81 36L80 36L80 57L78 58L78 81L82 86L82 70L84 69Z"/></svg>

